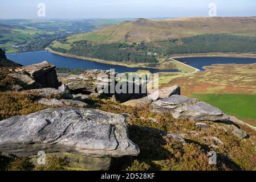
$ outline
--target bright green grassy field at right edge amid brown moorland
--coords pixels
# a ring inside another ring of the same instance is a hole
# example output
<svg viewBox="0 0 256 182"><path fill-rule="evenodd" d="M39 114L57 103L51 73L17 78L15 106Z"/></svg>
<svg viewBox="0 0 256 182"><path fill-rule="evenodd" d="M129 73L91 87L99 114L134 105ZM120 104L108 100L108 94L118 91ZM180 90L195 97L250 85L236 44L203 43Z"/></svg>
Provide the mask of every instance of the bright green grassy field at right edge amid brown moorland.
<svg viewBox="0 0 256 182"><path fill-rule="evenodd" d="M239 119L255 119L256 96L246 94L192 94L192 98L207 102L218 107L224 113L234 115ZM254 123L256 126L256 122Z"/></svg>

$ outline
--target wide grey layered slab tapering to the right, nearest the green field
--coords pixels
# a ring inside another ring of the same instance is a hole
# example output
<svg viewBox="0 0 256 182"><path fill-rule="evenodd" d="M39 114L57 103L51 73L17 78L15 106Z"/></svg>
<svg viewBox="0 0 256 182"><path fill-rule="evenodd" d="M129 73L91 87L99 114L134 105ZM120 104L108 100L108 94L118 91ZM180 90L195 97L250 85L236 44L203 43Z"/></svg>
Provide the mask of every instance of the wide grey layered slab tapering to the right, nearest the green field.
<svg viewBox="0 0 256 182"><path fill-rule="evenodd" d="M189 118L194 121L229 121L229 116L220 109L193 98L173 95L152 102L153 113L170 113L174 118Z"/></svg>

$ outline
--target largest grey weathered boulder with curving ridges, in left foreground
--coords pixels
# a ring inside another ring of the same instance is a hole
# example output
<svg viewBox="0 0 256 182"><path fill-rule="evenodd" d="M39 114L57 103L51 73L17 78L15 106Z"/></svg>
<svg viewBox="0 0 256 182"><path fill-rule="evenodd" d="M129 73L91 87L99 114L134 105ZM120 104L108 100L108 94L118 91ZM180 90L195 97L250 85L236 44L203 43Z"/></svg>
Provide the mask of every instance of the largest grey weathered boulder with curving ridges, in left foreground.
<svg viewBox="0 0 256 182"><path fill-rule="evenodd" d="M123 115L95 109L59 107L0 121L3 155L68 152L94 157L136 156Z"/></svg>

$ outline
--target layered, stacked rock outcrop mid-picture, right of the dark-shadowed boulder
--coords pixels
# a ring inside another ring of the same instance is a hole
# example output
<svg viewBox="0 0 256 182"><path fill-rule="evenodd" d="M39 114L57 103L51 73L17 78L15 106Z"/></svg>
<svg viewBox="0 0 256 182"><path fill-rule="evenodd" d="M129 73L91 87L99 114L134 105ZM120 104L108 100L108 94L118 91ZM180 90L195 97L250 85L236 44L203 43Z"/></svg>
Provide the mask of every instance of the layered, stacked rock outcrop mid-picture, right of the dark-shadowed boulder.
<svg viewBox="0 0 256 182"><path fill-rule="evenodd" d="M113 81L110 79L110 75L110 71L92 69L85 71L81 75L63 76L60 74L58 75L58 79L71 89L72 94L91 94L97 92L98 86L100 87L104 85L106 88L108 88L111 81Z"/></svg>

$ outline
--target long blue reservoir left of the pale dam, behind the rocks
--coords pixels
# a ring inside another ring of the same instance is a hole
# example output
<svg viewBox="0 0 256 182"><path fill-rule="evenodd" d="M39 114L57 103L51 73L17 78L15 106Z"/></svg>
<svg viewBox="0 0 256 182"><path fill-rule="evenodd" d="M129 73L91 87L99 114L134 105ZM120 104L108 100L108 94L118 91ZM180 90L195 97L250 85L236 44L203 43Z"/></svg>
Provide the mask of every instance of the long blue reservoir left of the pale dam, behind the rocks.
<svg viewBox="0 0 256 182"><path fill-rule="evenodd" d="M94 61L88 61L83 59L76 59L73 57L64 57L60 55L55 55L54 53L48 51L35 51L35 52L25 52L25 53L10 53L6 55L9 60L13 60L16 63L22 65L30 65L40 63L42 61L48 61L51 64L54 64L56 67L65 67L65 68L84 68L84 69L115 69L117 73L124 72L137 72L138 70L148 70L151 73L160 72L159 69L154 68L129 68L121 65L111 65L98 63ZM170 70L161 70L161 72L178 72L177 69Z"/></svg>

